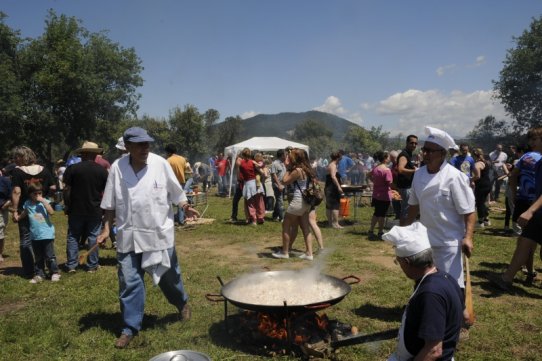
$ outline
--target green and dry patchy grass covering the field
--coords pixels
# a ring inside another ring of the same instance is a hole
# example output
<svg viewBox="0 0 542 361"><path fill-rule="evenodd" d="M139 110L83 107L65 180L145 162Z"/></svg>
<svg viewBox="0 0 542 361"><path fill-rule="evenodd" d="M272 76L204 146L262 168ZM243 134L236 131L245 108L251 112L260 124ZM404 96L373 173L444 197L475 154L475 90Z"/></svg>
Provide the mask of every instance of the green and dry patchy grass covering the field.
<svg viewBox="0 0 542 361"><path fill-rule="evenodd" d="M229 199L210 196L209 204L205 216L216 219L212 225L186 227L176 233L192 319L176 321L176 310L147 277L144 329L126 350L113 347L122 326L114 251L100 251L102 268L95 274L62 273L56 284L32 285L18 275L18 233L10 223L6 262L0 267L0 360L148 360L179 349L200 351L213 360L267 359L246 353L245 347L226 334L223 305L209 302L205 295L220 292L216 276L229 281L266 267L299 269L310 263L269 258L270 247L280 244L280 223L232 225L225 221L230 215ZM319 219L324 220L324 207L318 211ZM359 208L358 222L341 231L322 228L329 254L315 261L326 274L353 274L362 279L342 302L325 310L328 317L355 325L361 333L397 328L412 289L412 281L391 262L391 247L367 240L371 213L368 207ZM500 272L506 266L515 247L515 238L497 232L502 218L503 214L494 210L493 226L475 236L471 273L477 318L470 339L459 345L456 360L537 360L542 354L540 281L531 288L518 282L516 295L507 295L497 292L486 279L488 272ZM66 217L57 213L54 223L57 258L62 264L66 259ZM301 238L294 248L304 248ZM538 256L535 265L540 268ZM523 276L518 274L517 278L521 281ZM229 310L233 312L234 307ZM348 346L340 348L335 358L383 360L394 347L395 340Z"/></svg>

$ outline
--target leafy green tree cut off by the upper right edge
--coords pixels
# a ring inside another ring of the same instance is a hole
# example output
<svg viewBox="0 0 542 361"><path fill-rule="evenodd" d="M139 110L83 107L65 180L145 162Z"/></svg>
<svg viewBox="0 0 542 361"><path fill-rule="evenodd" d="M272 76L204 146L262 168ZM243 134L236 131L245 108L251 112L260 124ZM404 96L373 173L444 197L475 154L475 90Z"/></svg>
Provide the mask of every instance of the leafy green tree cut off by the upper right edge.
<svg viewBox="0 0 542 361"><path fill-rule="evenodd" d="M515 118L516 130L525 131L542 125L542 17L514 40L517 46L508 50L493 84L496 97Z"/></svg>

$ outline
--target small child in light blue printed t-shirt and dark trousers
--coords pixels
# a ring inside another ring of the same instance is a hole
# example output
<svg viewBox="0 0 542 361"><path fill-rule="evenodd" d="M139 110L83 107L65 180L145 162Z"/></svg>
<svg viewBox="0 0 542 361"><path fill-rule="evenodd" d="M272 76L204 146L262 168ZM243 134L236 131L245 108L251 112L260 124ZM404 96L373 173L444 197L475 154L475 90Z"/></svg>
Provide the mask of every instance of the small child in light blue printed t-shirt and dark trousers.
<svg viewBox="0 0 542 361"><path fill-rule="evenodd" d="M34 249L35 276L30 283L40 283L45 278L45 262L51 272L51 281L60 280L60 273L55 256L55 226L51 222L50 215L55 212L49 201L42 196L42 186L39 182L28 185L29 199L23 205L23 212L19 219L28 217L32 248Z"/></svg>

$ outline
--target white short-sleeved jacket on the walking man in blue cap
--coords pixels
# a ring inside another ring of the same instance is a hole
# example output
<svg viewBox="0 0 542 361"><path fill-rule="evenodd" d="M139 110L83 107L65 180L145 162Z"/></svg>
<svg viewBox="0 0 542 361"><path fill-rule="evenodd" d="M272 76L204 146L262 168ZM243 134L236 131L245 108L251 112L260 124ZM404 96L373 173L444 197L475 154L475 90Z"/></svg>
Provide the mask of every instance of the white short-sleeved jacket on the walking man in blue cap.
<svg viewBox="0 0 542 361"><path fill-rule="evenodd" d="M172 204L186 201L169 163L149 153L147 166L137 174L130 156L113 163L100 206L115 211L117 252L141 253L173 247Z"/></svg>

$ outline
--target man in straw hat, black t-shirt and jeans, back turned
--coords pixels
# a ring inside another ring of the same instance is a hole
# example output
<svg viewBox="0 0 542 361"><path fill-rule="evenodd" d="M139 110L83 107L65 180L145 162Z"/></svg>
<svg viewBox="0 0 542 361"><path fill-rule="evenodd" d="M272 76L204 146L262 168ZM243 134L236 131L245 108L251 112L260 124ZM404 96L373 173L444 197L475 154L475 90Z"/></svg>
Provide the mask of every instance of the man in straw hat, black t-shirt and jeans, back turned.
<svg viewBox="0 0 542 361"><path fill-rule="evenodd" d="M68 214L68 239L66 241L66 268L75 272L78 265L79 240L88 239L88 247L96 244L96 237L102 229L102 200L108 173L94 159L102 152L96 143L84 142L76 151L81 162L66 169L64 173L64 202ZM98 268L98 250L88 257L87 271Z"/></svg>

